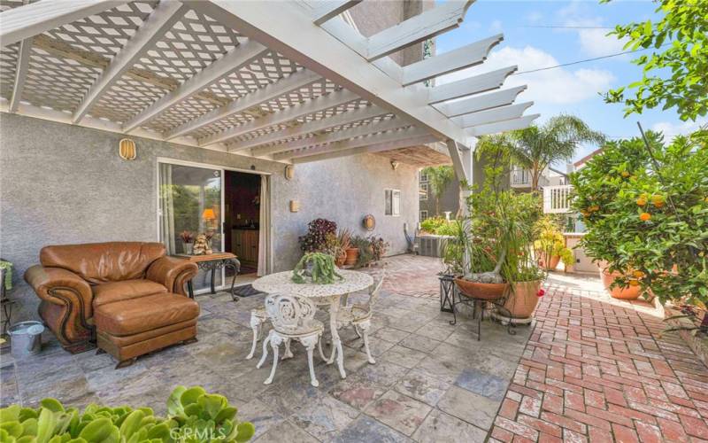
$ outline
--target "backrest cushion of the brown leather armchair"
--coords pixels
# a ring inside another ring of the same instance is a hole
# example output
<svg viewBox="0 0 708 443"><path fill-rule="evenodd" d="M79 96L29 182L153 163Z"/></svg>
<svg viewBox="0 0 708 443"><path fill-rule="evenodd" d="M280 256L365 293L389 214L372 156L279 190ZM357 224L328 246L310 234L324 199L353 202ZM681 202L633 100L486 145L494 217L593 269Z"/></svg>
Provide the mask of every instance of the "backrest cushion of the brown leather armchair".
<svg viewBox="0 0 708 443"><path fill-rule="evenodd" d="M165 245L144 242L45 246L39 253L42 266L68 269L92 284L143 278L163 256Z"/></svg>

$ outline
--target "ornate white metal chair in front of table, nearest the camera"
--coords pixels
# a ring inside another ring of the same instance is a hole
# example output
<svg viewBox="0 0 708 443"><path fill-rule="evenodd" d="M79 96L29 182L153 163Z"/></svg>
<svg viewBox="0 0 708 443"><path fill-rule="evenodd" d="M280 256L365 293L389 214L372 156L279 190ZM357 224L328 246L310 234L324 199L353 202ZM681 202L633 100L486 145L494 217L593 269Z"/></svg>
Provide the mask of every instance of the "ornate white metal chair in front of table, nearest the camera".
<svg viewBox="0 0 708 443"><path fill-rule="evenodd" d="M322 353L322 333L325 326L322 322L314 319L316 307L310 299L299 295L273 294L266 298L266 313L273 323L273 329L268 332L268 337L263 341L263 355L258 361L256 368L263 366L268 356L268 344L273 348L273 369L271 375L263 382L264 385L273 383L275 369L278 366L278 353L281 343L285 343L285 355L283 358L292 357L290 353L290 340L297 340L303 344L307 350L307 363L310 366L310 383L318 386L319 382L315 377L312 354L315 346L319 348L319 356L322 360L325 355Z"/></svg>

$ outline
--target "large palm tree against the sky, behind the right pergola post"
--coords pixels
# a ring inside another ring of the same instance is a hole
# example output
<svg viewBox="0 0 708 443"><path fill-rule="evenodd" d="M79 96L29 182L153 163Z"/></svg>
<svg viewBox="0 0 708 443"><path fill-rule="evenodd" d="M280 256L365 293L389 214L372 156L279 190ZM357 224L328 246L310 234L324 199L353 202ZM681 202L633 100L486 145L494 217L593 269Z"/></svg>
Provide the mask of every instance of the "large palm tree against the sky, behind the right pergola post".
<svg viewBox="0 0 708 443"><path fill-rule="evenodd" d="M483 136L477 148L480 152L508 152L514 165L531 171L531 189L538 190L543 170L555 162L573 159L581 143L602 144L604 135L578 117L558 115L542 126Z"/></svg>

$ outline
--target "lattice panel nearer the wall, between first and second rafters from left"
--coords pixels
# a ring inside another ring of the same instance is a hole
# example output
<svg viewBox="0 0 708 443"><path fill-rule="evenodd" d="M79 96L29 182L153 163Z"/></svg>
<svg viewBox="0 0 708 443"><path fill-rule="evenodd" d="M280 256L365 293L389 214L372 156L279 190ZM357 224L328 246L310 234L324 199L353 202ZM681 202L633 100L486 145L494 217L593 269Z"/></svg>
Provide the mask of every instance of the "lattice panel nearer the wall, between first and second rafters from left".
<svg viewBox="0 0 708 443"><path fill-rule="evenodd" d="M22 98L32 105L73 111L101 70L33 48Z"/></svg>

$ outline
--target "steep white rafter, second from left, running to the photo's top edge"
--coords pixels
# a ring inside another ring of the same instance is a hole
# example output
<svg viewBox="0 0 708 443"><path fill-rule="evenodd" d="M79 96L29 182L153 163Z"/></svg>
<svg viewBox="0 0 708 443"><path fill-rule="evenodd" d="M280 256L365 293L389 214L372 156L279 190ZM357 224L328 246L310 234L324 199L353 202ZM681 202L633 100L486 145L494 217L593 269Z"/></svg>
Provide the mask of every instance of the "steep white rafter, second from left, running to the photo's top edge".
<svg viewBox="0 0 708 443"><path fill-rule="evenodd" d="M103 96L104 92L111 89L127 70L158 43L165 33L170 30L177 20L189 11L189 7L180 2L160 2L148 19L142 23L138 31L127 41L126 45L112 59L103 74L91 86L81 100L81 104L73 113L73 123L78 123L86 116L91 106Z"/></svg>

